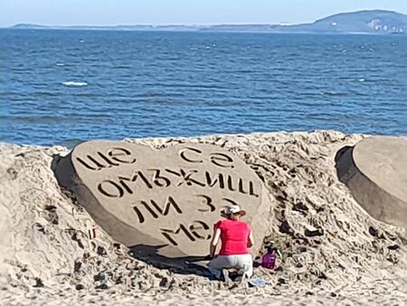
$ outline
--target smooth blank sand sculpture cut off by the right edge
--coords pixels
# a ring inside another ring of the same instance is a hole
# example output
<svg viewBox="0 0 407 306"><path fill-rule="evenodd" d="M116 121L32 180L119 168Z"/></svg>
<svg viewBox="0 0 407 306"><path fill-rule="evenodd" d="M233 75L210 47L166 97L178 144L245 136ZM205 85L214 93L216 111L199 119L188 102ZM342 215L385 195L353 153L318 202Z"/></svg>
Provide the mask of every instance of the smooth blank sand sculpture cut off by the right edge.
<svg viewBox="0 0 407 306"><path fill-rule="evenodd" d="M339 159L338 174L370 215L407 228L407 140L363 139Z"/></svg>

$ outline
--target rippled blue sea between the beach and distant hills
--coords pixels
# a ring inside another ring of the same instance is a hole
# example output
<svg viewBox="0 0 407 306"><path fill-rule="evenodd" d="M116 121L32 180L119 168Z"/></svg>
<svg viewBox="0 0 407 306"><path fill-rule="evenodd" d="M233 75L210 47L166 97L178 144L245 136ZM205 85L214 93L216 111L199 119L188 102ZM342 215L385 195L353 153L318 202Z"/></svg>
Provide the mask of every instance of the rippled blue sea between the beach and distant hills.
<svg viewBox="0 0 407 306"><path fill-rule="evenodd" d="M0 30L0 140L407 134L407 36Z"/></svg>

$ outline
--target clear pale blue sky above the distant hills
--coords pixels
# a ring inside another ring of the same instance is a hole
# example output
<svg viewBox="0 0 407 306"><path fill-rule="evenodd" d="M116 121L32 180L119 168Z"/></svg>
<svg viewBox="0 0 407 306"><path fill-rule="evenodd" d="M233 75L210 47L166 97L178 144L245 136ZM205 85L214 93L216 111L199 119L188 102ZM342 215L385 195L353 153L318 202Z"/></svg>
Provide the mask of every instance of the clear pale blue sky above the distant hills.
<svg viewBox="0 0 407 306"><path fill-rule="evenodd" d="M0 26L30 24L297 24L407 0L0 0Z"/></svg>

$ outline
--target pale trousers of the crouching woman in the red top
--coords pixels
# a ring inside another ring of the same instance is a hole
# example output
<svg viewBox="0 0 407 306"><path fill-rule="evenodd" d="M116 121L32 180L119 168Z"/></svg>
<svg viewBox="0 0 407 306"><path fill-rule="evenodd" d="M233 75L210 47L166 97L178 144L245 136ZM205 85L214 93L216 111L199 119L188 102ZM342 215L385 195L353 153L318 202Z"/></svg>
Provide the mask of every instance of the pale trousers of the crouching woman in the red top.
<svg viewBox="0 0 407 306"><path fill-rule="evenodd" d="M217 279L221 278L222 269L243 269L248 278L253 274L253 259L250 253L241 255L220 255L208 263L208 269Z"/></svg>

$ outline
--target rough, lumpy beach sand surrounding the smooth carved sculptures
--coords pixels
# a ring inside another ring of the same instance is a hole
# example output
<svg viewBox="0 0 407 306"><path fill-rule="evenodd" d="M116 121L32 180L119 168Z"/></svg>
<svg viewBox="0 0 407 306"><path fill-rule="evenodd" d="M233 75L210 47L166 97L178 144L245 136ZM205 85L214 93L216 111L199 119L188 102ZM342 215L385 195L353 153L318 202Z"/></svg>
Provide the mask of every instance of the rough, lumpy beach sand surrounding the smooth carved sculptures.
<svg viewBox="0 0 407 306"><path fill-rule="evenodd" d="M278 202L267 240L283 253L278 271L256 270L270 282L260 289L225 288L132 259L58 186L52 160L68 149L1 144L0 298L67 305L213 304L226 296L251 304L401 304L407 301L405 230L366 214L336 177L336 152L363 138L321 131L128 139L154 148L214 143L257 172ZM97 237L90 239L93 228Z"/></svg>

